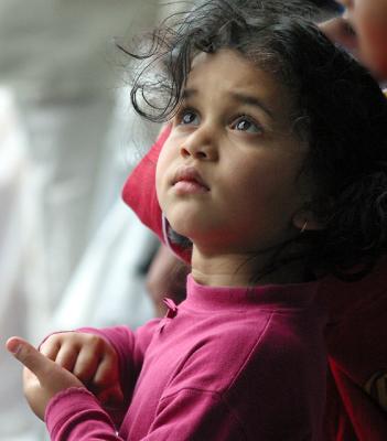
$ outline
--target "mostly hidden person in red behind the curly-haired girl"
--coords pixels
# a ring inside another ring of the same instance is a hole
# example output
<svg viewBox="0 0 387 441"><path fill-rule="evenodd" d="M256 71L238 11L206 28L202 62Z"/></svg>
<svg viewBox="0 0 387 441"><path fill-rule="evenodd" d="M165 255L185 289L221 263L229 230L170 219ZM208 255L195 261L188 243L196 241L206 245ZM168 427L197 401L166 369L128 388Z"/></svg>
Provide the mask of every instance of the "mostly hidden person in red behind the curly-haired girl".
<svg viewBox="0 0 387 441"><path fill-rule="evenodd" d="M332 40L357 54L383 84L387 79L387 1L341 3L346 8L343 15L322 23L321 28ZM135 170L125 194L129 205L166 244L168 237L165 240L162 235L160 208L152 197L152 181L150 179L148 185L143 185L143 181L146 176L153 175L155 159L168 135L165 130ZM146 205L144 200L151 201L151 204ZM180 258L190 262L184 249L175 244L169 245ZM166 248L158 259L161 257L164 266L174 265ZM319 297L329 312L325 332L330 367L325 405L326 439L387 439L386 269L387 260L383 259L362 280L348 283L336 277L325 277L319 283ZM160 267L159 270L157 266L154 270L152 268L150 277L152 284L160 287ZM172 289L175 286L170 283Z"/></svg>

